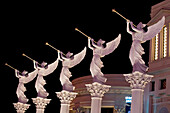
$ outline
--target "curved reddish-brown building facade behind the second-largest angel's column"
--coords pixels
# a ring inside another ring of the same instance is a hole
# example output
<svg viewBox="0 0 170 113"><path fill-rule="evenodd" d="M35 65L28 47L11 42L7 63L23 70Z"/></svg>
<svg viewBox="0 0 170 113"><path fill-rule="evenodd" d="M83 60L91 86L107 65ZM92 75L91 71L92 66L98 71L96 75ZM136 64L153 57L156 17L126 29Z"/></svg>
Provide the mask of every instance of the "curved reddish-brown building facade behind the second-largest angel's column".
<svg viewBox="0 0 170 113"><path fill-rule="evenodd" d="M125 110L130 111L131 104L131 88L129 83L125 81L123 74L105 74L107 85L111 88L105 93L102 99L102 113L125 113ZM71 104L71 112L90 113L91 110L91 95L87 91L85 84L93 82L92 76L84 76L72 81L76 87L75 92L77 97Z"/></svg>

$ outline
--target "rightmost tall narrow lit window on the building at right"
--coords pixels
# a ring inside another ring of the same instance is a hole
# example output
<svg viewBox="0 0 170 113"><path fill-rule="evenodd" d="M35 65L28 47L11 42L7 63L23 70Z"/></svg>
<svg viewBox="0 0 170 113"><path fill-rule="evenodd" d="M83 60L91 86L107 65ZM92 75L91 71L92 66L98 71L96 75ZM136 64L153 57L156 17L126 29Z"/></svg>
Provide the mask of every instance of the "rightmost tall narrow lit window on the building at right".
<svg viewBox="0 0 170 113"><path fill-rule="evenodd" d="M167 56L167 27L163 28L163 57Z"/></svg>

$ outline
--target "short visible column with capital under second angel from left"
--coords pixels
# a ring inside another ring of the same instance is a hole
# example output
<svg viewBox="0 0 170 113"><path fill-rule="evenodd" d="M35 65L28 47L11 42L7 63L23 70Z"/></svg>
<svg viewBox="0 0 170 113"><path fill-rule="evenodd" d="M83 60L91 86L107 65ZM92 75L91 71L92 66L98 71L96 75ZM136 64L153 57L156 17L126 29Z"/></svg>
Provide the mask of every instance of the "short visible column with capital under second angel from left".
<svg viewBox="0 0 170 113"><path fill-rule="evenodd" d="M46 99L46 98L32 98L33 103L36 105L36 113L44 113L44 110L47 106L47 104L50 103L51 99Z"/></svg>

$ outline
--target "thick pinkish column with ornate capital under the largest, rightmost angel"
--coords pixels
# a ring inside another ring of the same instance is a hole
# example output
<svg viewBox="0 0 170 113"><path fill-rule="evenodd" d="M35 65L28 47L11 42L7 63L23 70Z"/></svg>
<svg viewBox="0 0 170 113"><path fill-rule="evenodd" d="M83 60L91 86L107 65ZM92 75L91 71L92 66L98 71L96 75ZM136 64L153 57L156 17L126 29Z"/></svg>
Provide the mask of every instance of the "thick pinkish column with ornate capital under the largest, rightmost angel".
<svg viewBox="0 0 170 113"><path fill-rule="evenodd" d="M124 74L124 76L132 88L131 113L143 113L143 89L153 76L138 71L132 74Z"/></svg>

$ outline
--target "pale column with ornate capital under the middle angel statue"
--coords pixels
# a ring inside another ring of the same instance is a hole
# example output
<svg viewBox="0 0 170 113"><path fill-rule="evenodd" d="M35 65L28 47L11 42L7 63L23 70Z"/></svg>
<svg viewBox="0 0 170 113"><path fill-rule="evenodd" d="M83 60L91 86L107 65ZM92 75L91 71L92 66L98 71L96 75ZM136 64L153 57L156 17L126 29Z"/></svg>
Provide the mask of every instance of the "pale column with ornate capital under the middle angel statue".
<svg viewBox="0 0 170 113"><path fill-rule="evenodd" d="M60 113L69 113L70 103L76 98L78 93L63 90L61 92L56 92L56 94L61 101Z"/></svg>

